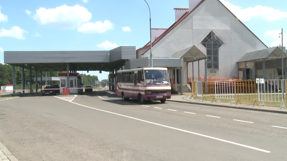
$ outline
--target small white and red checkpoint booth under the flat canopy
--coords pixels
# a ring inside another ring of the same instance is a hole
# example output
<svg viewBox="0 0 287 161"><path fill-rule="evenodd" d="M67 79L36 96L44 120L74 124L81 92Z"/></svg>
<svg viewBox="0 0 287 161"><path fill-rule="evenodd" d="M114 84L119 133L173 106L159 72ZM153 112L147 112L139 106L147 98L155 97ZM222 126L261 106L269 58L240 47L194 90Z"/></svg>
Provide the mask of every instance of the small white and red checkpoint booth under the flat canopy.
<svg viewBox="0 0 287 161"><path fill-rule="evenodd" d="M69 88L69 94L78 94L81 87L82 77L79 73L69 73L69 80L67 80L67 73L58 73L60 78L60 94L63 94L63 89ZM67 87L67 81L70 83L70 87ZM64 94L67 90L64 91Z"/></svg>

